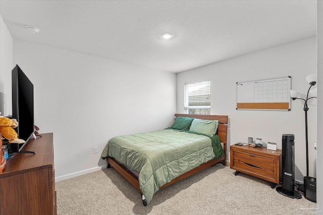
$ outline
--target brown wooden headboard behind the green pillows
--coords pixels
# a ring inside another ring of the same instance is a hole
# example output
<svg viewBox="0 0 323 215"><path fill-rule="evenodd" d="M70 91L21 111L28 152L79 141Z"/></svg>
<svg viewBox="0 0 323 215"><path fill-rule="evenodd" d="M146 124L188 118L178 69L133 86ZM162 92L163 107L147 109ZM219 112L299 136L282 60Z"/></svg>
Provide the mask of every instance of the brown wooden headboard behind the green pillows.
<svg viewBox="0 0 323 215"><path fill-rule="evenodd" d="M217 135L222 143L227 144L228 116L223 115L195 115L195 114L175 114L175 117L191 117L201 120L219 120Z"/></svg>

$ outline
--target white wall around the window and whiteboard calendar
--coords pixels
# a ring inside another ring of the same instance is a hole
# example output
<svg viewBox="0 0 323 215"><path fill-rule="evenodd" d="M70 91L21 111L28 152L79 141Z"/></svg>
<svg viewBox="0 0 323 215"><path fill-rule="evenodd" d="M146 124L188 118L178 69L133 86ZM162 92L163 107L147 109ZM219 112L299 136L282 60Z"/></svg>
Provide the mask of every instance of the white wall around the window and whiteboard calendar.
<svg viewBox="0 0 323 215"><path fill-rule="evenodd" d="M282 134L294 134L296 168L306 175L305 117L301 100L292 102L291 111L236 110L235 84L291 76L292 89L307 93L309 84L305 77L311 73L316 73L315 37L178 73L177 112L184 112L184 83L210 79L211 114L229 116L228 144L247 142L248 137L253 137L276 142L282 149ZM308 111L309 175L315 177L316 99L312 101ZM295 177L303 181L301 174Z"/></svg>

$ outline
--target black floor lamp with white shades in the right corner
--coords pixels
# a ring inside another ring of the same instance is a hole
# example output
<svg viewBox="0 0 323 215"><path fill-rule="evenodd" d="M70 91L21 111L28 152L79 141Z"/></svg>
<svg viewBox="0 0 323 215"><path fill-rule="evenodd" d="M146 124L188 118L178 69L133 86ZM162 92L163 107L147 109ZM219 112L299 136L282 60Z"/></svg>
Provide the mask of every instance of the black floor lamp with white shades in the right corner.
<svg viewBox="0 0 323 215"><path fill-rule="evenodd" d="M310 84L306 99L298 98L299 92L296 90L291 90L291 97L293 100L302 99L304 103L304 112L305 112L305 140L306 140L306 176L304 176L304 197L310 201L316 202L316 179L308 176L308 132L307 132L307 111L309 110L307 106L307 101L313 97L308 97L310 89L316 84L316 74L310 74L306 77L306 81Z"/></svg>

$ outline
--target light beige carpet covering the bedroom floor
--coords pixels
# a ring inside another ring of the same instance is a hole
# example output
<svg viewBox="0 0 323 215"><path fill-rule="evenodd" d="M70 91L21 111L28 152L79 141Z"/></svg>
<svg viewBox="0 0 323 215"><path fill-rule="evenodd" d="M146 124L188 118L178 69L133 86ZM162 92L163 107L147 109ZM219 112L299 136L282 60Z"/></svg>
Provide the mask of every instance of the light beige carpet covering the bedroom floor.
<svg viewBox="0 0 323 215"><path fill-rule="evenodd" d="M316 204L291 199L268 182L218 164L154 194L139 192L113 168L56 183L58 214L315 214Z"/></svg>

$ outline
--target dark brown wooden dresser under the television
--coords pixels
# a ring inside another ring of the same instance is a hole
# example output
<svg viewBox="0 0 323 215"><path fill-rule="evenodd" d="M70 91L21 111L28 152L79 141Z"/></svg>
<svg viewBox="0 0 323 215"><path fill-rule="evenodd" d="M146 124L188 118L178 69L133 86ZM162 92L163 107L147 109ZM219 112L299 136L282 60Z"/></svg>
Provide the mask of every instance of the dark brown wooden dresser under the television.
<svg viewBox="0 0 323 215"><path fill-rule="evenodd" d="M0 214L56 214L53 134L31 139L0 174Z"/></svg>

